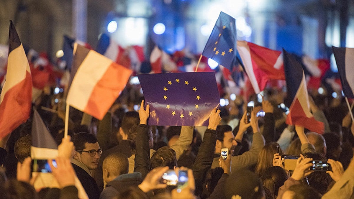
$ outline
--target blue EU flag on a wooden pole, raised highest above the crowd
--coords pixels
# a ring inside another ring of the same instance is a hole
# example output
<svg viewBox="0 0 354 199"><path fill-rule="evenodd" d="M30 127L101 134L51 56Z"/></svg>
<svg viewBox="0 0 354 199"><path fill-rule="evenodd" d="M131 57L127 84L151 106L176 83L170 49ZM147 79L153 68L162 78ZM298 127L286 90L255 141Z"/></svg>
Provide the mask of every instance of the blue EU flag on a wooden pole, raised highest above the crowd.
<svg viewBox="0 0 354 199"><path fill-rule="evenodd" d="M220 12L202 55L232 71L236 57L236 20Z"/></svg>

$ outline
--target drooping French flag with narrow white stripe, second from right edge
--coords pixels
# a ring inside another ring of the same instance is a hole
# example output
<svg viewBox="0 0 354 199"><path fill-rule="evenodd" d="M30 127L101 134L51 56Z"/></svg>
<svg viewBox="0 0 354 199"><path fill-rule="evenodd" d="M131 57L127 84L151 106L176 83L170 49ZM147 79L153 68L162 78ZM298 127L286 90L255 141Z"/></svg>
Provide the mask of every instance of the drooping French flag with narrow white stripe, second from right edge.
<svg viewBox="0 0 354 199"><path fill-rule="evenodd" d="M286 117L286 124L303 126L317 133L324 132L324 124L315 120L310 112L306 79L301 64L283 49L284 72L287 97L291 106Z"/></svg>

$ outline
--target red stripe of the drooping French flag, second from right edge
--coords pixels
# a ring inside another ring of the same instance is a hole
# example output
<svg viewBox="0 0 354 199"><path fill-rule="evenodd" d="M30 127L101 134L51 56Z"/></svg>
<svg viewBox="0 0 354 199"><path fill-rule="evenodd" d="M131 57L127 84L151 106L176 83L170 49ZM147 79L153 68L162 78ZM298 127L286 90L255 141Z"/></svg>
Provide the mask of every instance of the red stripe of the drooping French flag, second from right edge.
<svg viewBox="0 0 354 199"><path fill-rule="evenodd" d="M315 120L312 116L308 118L296 97L290 106L290 112L286 116L286 124L303 126L310 131L314 131L320 134L324 133L324 124Z"/></svg>

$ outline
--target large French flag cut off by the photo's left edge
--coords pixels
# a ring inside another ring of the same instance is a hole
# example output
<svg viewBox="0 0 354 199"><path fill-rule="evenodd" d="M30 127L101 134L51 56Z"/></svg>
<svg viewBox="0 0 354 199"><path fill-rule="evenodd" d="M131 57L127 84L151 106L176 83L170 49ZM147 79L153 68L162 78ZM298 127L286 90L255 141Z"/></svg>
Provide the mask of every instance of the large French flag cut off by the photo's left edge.
<svg viewBox="0 0 354 199"><path fill-rule="evenodd" d="M31 71L15 25L10 21L7 73L0 95L0 139L29 118L31 101Z"/></svg>

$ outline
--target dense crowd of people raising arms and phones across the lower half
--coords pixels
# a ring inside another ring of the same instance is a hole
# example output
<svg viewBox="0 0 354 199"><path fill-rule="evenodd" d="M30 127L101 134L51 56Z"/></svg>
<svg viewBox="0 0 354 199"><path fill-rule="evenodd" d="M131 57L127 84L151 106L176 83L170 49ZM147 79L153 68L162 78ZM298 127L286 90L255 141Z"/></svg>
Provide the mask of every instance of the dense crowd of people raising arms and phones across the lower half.
<svg viewBox="0 0 354 199"><path fill-rule="evenodd" d="M33 107L58 144L58 157L47 160L57 186L33 186L38 174L31 172L31 117L0 141L0 199L79 198L75 179L90 199L353 198L354 123L348 108L340 96L310 96L323 135L287 125L279 106L286 95L270 88L262 102L250 97L250 121L248 101L237 96L212 111L208 126L149 126L149 105L138 85L128 85L102 120L70 107L64 137L63 93L47 88ZM228 155L221 158L225 148ZM313 170L313 161L330 168ZM181 182L166 183L171 171Z"/></svg>

